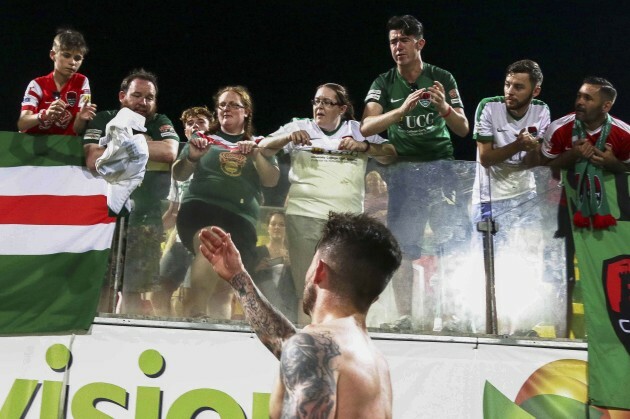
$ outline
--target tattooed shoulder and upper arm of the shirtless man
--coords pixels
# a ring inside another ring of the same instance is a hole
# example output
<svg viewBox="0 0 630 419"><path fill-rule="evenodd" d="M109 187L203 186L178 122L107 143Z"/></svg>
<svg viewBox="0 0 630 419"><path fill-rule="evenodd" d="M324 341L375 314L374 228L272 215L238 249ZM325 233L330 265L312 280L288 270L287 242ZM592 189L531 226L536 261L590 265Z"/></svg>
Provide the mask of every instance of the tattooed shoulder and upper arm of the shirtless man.
<svg viewBox="0 0 630 419"><path fill-rule="evenodd" d="M280 358L282 418L332 418L337 403L339 346L330 333L298 333ZM272 416L280 411L272 399Z"/></svg>

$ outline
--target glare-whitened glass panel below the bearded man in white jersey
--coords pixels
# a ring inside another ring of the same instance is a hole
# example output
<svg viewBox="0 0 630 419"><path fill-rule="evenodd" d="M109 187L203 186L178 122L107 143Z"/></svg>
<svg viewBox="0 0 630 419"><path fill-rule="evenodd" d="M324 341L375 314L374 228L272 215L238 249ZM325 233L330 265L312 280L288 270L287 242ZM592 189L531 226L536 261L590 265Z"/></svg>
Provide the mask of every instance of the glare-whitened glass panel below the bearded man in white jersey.
<svg viewBox="0 0 630 419"><path fill-rule="evenodd" d="M548 168L535 168L528 192L491 201L496 221L494 269L498 333L568 337L564 239L559 238L561 188ZM557 233L558 232L558 233Z"/></svg>

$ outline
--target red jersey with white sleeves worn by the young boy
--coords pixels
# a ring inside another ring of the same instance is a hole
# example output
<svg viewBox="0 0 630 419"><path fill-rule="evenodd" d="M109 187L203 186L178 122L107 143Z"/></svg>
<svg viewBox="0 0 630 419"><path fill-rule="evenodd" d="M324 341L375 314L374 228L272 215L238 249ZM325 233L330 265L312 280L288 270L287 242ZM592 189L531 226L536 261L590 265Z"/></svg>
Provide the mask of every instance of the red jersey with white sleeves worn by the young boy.
<svg viewBox="0 0 630 419"><path fill-rule="evenodd" d="M52 72L32 80L24 93L22 111L32 111L36 114L42 109L48 109L57 98L68 104L61 118L55 122L47 121L24 132L29 134L75 135L74 117L81 109L81 104L91 101L90 82L83 74L73 74L61 91L57 91Z"/></svg>

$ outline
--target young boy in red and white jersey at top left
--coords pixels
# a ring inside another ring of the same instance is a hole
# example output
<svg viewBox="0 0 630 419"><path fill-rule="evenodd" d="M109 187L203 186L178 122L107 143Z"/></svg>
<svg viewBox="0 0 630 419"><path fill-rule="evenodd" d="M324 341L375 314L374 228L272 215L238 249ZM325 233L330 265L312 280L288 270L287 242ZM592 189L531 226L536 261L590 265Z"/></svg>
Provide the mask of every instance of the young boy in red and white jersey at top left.
<svg viewBox="0 0 630 419"><path fill-rule="evenodd" d="M71 29L57 31L50 51L54 69L32 80L26 88L18 120L20 132L75 135L73 123L77 113L83 111L83 124L93 117L96 107L90 103L90 83L78 73L87 52L81 33Z"/></svg>

